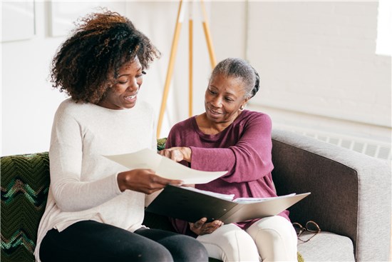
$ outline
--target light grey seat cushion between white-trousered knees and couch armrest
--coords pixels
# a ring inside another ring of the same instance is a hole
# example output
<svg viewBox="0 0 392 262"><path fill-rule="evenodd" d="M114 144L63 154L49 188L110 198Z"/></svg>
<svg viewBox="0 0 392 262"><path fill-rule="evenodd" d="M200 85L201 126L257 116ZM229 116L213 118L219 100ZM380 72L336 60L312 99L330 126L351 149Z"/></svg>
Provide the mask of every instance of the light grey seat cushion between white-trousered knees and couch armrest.
<svg viewBox="0 0 392 262"><path fill-rule="evenodd" d="M301 238L309 239L309 233ZM298 252L304 261L355 261L354 246L350 238L336 233L321 231L310 241L298 241Z"/></svg>

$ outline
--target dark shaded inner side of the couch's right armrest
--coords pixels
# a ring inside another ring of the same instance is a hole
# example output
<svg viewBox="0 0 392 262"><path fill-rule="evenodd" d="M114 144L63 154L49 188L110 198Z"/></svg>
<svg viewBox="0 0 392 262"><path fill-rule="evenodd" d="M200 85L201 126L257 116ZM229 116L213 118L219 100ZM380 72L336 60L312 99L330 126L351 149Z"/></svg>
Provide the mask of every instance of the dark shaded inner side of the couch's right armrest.
<svg viewBox="0 0 392 262"><path fill-rule="evenodd" d="M322 231L351 238L355 248L359 223L358 172L326 158L321 152L304 149L311 145L308 139L301 146L273 140L272 178L278 195L311 192L309 197L289 208L292 222L304 225L306 221L316 221ZM319 151L326 151L319 147Z"/></svg>

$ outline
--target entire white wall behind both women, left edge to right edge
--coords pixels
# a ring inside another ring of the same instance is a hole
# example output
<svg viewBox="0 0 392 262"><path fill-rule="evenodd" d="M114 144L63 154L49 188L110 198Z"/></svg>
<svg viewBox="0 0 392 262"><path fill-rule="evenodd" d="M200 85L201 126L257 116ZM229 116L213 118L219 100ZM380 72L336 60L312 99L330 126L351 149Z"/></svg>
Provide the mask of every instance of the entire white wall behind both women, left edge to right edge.
<svg viewBox="0 0 392 262"><path fill-rule="evenodd" d="M35 36L1 43L1 156L48 150L53 114L65 98L47 81L51 58L64 36L50 34L50 4L35 3ZM140 99L153 104L158 119L178 2L121 3L125 8L120 13L163 54L140 91ZM391 143L391 58L376 56L373 50L377 2L205 4L217 61L239 56L261 74L262 90L249 109L267 112L277 127L329 130ZM211 68L196 8L193 14L193 114L200 114ZM186 16L160 136L188 116L187 26Z"/></svg>

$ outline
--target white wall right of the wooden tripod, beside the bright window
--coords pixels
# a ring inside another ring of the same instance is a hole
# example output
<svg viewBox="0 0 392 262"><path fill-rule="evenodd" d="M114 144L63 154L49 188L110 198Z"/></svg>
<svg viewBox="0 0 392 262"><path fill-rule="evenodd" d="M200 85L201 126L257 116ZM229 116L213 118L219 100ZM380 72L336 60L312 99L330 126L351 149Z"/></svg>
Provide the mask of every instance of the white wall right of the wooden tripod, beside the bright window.
<svg viewBox="0 0 392 262"><path fill-rule="evenodd" d="M213 2L211 9L218 58L241 56L261 76L249 109L270 114L277 128L391 147L391 56L376 55L378 1Z"/></svg>

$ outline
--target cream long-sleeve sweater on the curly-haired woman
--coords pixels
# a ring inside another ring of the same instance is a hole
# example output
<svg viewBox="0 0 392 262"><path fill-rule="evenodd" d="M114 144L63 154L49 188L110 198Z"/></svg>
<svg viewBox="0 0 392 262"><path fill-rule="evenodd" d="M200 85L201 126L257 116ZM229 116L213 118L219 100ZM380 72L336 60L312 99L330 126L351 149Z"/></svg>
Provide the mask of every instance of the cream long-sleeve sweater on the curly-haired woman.
<svg viewBox="0 0 392 262"><path fill-rule="evenodd" d="M117 175L126 168L105 155L156 149L153 109L138 102L133 109L112 110L66 99L58 107L49 149L51 185L38 227L35 251L51 228L63 231L93 220L129 231L142 227L145 194L120 191Z"/></svg>

